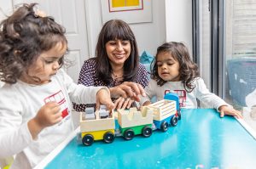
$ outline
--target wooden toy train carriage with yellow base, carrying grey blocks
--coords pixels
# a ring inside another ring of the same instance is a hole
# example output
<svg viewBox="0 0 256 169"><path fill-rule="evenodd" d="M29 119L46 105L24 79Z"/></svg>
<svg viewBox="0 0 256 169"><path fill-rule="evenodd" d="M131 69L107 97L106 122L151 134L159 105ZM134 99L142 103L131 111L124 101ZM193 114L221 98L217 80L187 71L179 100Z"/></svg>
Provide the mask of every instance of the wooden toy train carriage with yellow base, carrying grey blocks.
<svg viewBox="0 0 256 169"><path fill-rule="evenodd" d="M91 145L95 140L112 143L115 137L114 128L114 116L106 110L80 114L81 138L84 145Z"/></svg>

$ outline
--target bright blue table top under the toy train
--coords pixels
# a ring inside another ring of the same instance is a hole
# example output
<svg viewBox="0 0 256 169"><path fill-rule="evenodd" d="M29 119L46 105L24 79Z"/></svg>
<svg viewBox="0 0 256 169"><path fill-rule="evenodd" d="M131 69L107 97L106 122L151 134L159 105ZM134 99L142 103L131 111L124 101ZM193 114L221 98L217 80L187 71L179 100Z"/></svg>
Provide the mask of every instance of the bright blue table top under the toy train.
<svg viewBox="0 0 256 169"><path fill-rule="evenodd" d="M255 168L256 141L234 117L216 110L182 110L167 132L89 147L76 138L46 168Z"/></svg>

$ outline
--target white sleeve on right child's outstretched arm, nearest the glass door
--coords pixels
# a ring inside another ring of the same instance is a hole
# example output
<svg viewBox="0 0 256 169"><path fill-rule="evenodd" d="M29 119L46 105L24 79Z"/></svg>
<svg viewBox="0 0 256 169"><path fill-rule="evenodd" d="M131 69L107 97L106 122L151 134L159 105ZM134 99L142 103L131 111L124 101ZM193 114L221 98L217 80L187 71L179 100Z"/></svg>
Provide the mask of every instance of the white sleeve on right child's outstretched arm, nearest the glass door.
<svg viewBox="0 0 256 169"><path fill-rule="evenodd" d="M210 108L218 110L218 107L221 105L229 105L214 93L210 93L205 82L201 78L195 79L195 94L197 99L204 104L207 104Z"/></svg>

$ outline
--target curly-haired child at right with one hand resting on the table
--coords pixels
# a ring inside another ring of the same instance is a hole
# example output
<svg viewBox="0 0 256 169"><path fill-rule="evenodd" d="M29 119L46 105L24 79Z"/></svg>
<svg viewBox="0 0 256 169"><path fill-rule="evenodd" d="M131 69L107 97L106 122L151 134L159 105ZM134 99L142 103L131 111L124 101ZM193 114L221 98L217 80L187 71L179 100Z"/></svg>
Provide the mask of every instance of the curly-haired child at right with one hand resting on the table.
<svg viewBox="0 0 256 169"><path fill-rule="evenodd" d="M181 107L197 108L196 99L199 99L217 109L221 117L224 115L241 117L239 111L209 92L205 82L199 77L197 65L191 60L189 51L183 43L166 42L161 45L157 48L152 65L152 79L145 88L148 97L142 98L141 104L150 104L149 99L153 96L161 100L166 93L175 92L180 97Z"/></svg>

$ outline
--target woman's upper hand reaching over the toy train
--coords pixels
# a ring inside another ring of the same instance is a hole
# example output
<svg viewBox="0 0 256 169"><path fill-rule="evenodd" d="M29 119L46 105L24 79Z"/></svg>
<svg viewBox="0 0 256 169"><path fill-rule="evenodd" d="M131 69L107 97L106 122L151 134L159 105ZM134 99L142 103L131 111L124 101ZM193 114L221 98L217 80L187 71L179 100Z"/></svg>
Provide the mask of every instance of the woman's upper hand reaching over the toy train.
<svg viewBox="0 0 256 169"><path fill-rule="evenodd" d="M139 95L146 96L142 85L136 82L123 82L119 86L110 87L109 91L112 98L119 98L119 96L121 96L125 99L130 98L139 101Z"/></svg>

